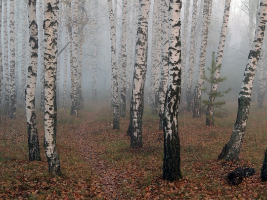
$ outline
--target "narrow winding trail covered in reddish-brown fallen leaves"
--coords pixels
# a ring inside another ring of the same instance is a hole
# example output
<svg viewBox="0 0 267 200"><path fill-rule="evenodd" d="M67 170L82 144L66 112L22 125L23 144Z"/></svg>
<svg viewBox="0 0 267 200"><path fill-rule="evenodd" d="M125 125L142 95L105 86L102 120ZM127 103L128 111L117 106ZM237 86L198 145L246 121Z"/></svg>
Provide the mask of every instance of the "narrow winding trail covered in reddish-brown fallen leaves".
<svg viewBox="0 0 267 200"><path fill-rule="evenodd" d="M101 127L95 124L94 118L99 113L88 115L88 118L82 121L78 131L78 139L81 144L80 151L84 160L89 164L92 174L92 188L95 190L94 194L98 198L105 200L122 200L125 199L123 195L124 176L122 170L116 166L116 162L107 162L102 158L105 154L105 149L98 146L95 140L106 141L108 137ZM108 124L110 125L110 124ZM91 130L88 132L88 130Z"/></svg>

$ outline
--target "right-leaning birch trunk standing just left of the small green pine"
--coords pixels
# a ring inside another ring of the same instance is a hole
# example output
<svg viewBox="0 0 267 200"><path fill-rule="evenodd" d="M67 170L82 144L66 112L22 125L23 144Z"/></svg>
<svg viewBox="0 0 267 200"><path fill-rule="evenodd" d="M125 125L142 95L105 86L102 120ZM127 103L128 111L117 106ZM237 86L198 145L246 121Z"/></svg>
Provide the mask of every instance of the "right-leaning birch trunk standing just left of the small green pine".
<svg viewBox="0 0 267 200"><path fill-rule="evenodd" d="M201 39L200 57L199 57L198 80L194 91L193 118L201 117L201 95L204 83L204 72L205 72L206 52L208 45L208 34L211 22L211 12L212 12L212 0L204 0L204 6L203 6L204 23L201 35L202 39Z"/></svg>

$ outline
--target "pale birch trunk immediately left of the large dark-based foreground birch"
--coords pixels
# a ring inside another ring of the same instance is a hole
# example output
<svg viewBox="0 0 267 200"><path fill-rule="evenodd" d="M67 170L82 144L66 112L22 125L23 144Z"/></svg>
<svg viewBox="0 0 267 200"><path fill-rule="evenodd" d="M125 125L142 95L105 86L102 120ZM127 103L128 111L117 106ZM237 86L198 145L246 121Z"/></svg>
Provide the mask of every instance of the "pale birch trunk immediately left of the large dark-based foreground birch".
<svg viewBox="0 0 267 200"><path fill-rule="evenodd" d="M162 0L163 6L163 22L162 22L162 41L161 41L161 80L159 86L159 129L163 129L164 118L164 102L168 89L169 75L169 1Z"/></svg>

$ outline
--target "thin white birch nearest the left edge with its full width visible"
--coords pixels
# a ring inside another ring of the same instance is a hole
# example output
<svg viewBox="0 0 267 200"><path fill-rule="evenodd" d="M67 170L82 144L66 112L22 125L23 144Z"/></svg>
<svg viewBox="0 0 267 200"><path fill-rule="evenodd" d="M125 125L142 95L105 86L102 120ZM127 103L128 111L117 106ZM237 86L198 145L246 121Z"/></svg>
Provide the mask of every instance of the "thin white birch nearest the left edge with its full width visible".
<svg viewBox="0 0 267 200"><path fill-rule="evenodd" d="M9 115L9 68L7 34L7 0L3 0L3 44L4 44L4 115Z"/></svg>

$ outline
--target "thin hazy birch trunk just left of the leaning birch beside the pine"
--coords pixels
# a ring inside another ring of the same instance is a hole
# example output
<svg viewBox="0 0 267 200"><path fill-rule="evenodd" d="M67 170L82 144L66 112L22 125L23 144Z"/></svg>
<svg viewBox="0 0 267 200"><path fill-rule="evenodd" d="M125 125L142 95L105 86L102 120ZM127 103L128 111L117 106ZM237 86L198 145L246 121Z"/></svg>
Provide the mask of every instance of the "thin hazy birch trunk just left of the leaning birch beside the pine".
<svg viewBox="0 0 267 200"><path fill-rule="evenodd" d="M190 54L189 54L189 66L186 86L186 105L187 112L192 110L192 81L194 78L194 67L195 67L195 48L196 48L196 23L197 23L197 0L193 0L193 12L192 12L192 27L191 27L191 39L190 39Z"/></svg>

